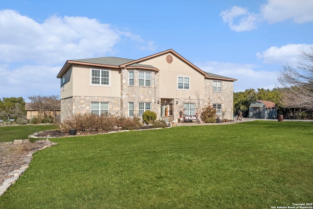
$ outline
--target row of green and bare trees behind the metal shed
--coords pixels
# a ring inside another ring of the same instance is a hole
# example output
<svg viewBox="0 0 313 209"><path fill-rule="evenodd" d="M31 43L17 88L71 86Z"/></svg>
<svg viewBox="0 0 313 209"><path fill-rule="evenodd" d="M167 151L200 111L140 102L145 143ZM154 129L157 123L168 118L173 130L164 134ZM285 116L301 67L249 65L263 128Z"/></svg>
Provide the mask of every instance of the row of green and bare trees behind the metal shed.
<svg viewBox="0 0 313 209"><path fill-rule="evenodd" d="M285 118L312 118L313 47L309 52L300 52L297 67L290 64L283 65L278 81L281 88L249 89L234 93L234 113L246 112L253 101L264 100L274 102L277 113L283 114Z"/></svg>

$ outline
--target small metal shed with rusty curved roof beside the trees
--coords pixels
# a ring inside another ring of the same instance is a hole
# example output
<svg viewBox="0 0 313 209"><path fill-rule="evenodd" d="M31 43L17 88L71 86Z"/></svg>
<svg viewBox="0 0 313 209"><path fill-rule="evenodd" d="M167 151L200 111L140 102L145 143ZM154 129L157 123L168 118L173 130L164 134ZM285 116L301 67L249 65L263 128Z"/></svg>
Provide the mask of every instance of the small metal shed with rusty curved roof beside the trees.
<svg viewBox="0 0 313 209"><path fill-rule="evenodd" d="M250 104L250 118L277 119L277 110L274 102L257 100Z"/></svg>

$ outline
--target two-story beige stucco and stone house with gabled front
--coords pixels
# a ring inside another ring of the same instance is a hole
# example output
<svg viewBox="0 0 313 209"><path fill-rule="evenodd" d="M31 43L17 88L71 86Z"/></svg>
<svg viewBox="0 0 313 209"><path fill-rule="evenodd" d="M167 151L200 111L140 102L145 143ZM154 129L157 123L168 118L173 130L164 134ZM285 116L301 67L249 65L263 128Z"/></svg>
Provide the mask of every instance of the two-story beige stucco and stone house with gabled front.
<svg viewBox="0 0 313 209"><path fill-rule="evenodd" d="M208 104L217 115L233 118L236 79L204 72L172 49L137 60L117 57L67 60L61 80L61 120L79 113L177 120Z"/></svg>

